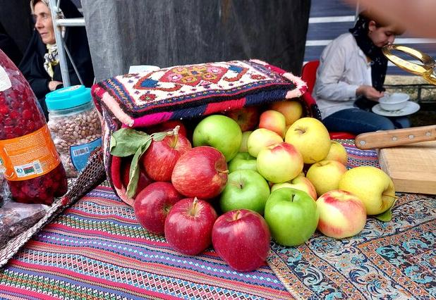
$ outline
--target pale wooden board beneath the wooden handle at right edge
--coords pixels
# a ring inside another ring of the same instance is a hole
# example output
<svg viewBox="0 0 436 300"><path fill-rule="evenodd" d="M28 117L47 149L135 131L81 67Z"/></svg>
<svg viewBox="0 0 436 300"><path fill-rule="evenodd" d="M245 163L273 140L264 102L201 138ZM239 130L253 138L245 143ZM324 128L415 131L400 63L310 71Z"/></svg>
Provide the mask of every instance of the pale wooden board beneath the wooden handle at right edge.
<svg viewBox="0 0 436 300"><path fill-rule="evenodd" d="M436 194L436 141L382 148L380 167L394 181L396 192Z"/></svg>

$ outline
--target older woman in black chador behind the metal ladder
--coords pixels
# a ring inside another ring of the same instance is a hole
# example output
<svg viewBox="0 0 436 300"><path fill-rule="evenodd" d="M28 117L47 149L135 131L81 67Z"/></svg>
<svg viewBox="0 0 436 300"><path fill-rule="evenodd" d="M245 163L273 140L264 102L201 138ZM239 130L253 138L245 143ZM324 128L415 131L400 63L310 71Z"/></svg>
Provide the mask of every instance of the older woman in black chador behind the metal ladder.
<svg viewBox="0 0 436 300"><path fill-rule="evenodd" d="M35 31L23 60L18 68L26 77L40 102L47 118L45 95L63 87L59 66L58 48L54 36L52 15L48 0L31 0L30 8L35 18ZM59 18L81 18L83 15L70 0L61 0ZM90 87L94 80L94 70L85 27L63 27L63 40L78 69L83 85ZM71 85L80 85L78 75L67 56L68 73Z"/></svg>

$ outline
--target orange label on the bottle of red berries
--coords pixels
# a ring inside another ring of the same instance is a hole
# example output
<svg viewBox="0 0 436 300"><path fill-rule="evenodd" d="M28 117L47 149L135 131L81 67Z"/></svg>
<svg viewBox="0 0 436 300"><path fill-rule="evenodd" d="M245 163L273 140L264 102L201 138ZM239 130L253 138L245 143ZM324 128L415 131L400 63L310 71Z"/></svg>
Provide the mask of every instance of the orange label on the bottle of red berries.
<svg viewBox="0 0 436 300"><path fill-rule="evenodd" d="M61 163L47 125L28 135L0 140L0 159L9 181L42 176Z"/></svg>

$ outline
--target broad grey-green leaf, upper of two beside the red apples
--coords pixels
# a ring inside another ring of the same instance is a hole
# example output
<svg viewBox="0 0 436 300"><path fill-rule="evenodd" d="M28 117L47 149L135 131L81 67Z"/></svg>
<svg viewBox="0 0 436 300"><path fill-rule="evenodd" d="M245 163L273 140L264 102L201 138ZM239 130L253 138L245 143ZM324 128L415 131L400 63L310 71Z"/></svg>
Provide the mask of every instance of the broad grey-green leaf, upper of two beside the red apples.
<svg viewBox="0 0 436 300"><path fill-rule="evenodd" d="M150 135L145 132L131 128L121 128L111 135L109 151L113 156L131 156L148 140L150 140Z"/></svg>

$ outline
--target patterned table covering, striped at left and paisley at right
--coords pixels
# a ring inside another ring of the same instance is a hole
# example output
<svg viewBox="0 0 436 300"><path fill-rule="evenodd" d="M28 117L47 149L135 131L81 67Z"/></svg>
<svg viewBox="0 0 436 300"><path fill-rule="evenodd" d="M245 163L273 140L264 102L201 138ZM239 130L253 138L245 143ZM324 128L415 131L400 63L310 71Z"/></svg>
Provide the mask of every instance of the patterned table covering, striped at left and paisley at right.
<svg viewBox="0 0 436 300"><path fill-rule="evenodd" d="M349 168L375 151L341 141ZM298 247L272 242L268 265L231 270L213 249L173 251L103 184L38 232L0 270L8 299L434 299L435 196L397 194L393 219L361 234L315 233Z"/></svg>

